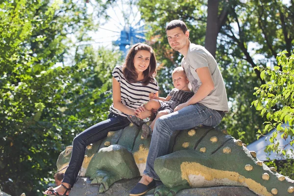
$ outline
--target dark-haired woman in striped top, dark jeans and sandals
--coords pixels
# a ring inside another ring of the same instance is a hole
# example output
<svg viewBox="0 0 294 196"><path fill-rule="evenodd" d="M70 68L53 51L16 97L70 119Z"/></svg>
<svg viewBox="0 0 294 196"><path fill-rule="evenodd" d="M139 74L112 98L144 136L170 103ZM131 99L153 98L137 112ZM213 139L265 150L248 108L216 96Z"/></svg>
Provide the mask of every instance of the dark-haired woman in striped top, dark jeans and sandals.
<svg viewBox="0 0 294 196"><path fill-rule="evenodd" d="M108 119L84 130L73 139L73 152L61 185L43 192L47 196L68 196L82 166L88 145L129 125L128 115L139 113L137 108L149 100L150 93L158 93L156 58L153 49L146 44L135 44L129 50L123 66L113 70L112 97Z"/></svg>

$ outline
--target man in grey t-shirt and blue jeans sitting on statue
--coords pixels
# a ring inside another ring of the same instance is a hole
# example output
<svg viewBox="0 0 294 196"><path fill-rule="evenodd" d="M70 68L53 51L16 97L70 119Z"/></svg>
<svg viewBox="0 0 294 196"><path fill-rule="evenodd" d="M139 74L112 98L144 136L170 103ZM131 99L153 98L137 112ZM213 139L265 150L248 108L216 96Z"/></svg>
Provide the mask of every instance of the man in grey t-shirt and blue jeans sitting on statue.
<svg viewBox="0 0 294 196"><path fill-rule="evenodd" d="M156 121L146 170L130 196L144 195L155 187L155 180L160 180L154 171L154 161L168 153L173 131L194 128L200 124L217 126L224 113L229 111L223 79L214 57L204 47L190 42L184 22L173 20L167 25L166 33L172 49L184 56L181 66L185 69L195 94L189 101L178 105L172 114Z"/></svg>

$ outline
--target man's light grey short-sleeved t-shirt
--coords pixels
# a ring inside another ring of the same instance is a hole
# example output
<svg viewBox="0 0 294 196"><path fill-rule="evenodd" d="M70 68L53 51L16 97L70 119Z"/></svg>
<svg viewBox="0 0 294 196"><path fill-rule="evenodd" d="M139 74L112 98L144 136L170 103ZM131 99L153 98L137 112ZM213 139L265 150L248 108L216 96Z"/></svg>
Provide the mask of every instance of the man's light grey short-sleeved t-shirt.
<svg viewBox="0 0 294 196"><path fill-rule="evenodd" d="M227 113L229 111L228 99L221 76L221 71L214 57L202 46L191 44L186 57L182 59L181 66L185 69L187 77L196 93L201 85L201 81L196 73L196 69L208 67L215 85L214 90L198 103L214 110L220 110Z"/></svg>

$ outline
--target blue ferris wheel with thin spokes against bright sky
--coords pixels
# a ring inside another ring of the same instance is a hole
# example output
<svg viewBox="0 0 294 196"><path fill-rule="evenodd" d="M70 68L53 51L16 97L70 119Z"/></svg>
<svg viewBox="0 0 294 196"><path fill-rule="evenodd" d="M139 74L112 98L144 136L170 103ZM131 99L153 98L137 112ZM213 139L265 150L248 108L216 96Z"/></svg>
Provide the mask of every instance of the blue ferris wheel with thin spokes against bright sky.
<svg viewBox="0 0 294 196"><path fill-rule="evenodd" d="M124 56L130 46L146 41L145 24L134 0L114 1L109 4L106 14L107 20L99 28L112 34L112 45L118 46Z"/></svg>

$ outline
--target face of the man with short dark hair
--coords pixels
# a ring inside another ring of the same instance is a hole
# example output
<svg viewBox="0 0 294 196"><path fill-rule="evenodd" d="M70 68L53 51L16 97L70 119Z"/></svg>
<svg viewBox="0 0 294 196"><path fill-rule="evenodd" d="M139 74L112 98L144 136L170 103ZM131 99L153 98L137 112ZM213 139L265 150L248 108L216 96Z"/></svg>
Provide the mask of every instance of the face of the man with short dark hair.
<svg viewBox="0 0 294 196"><path fill-rule="evenodd" d="M168 41L172 49L180 51L189 43L189 31L184 33L180 27L167 30Z"/></svg>

